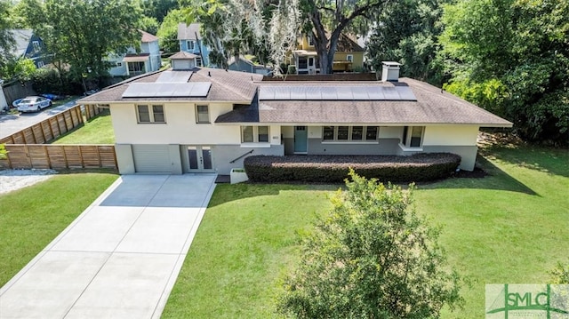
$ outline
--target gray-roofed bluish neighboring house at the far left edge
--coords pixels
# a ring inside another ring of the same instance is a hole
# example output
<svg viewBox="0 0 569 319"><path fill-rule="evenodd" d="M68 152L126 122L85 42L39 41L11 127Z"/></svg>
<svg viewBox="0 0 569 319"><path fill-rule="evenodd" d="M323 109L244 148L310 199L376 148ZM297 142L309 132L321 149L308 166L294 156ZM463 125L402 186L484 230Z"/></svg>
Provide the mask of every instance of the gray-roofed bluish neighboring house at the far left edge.
<svg viewBox="0 0 569 319"><path fill-rule="evenodd" d="M33 60L36 68L42 68L50 63L44 41L36 36L33 30L14 28L10 30L10 33L15 42L13 54L16 58Z"/></svg>

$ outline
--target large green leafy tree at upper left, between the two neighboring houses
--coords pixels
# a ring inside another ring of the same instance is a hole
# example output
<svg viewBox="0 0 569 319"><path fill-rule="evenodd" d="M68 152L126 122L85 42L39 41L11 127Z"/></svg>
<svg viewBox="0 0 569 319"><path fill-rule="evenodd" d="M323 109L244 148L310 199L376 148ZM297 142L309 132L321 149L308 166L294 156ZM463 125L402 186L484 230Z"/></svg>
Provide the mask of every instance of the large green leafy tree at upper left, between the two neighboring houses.
<svg viewBox="0 0 569 319"><path fill-rule="evenodd" d="M28 24L44 40L55 65L68 64L78 82L107 76L108 54L140 44L140 7L130 0L22 2Z"/></svg>

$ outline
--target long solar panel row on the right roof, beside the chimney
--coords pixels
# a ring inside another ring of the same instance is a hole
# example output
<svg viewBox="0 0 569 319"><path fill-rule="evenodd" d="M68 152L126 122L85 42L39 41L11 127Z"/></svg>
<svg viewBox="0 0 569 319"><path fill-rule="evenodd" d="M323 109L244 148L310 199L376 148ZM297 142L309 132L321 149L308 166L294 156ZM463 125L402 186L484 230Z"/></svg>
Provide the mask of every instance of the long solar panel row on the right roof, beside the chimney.
<svg viewBox="0 0 569 319"><path fill-rule="evenodd" d="M259 100L417 100L408 86L262 85Z"/></svg>

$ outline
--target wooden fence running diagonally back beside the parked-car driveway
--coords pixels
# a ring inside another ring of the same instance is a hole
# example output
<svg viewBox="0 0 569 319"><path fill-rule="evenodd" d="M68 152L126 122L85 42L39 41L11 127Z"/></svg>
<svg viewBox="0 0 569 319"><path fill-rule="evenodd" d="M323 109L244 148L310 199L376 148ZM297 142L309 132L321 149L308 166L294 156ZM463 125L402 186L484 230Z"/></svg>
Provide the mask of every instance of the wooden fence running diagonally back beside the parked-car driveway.
<svg viewBox="0 0 569 319"><path fill-rule="evenodd" d="M80 105L76 105L55 116L48 117L38 124L5 137L0 140L0 144L44 144L84 124L81 108ZM94 105L84 106L84 116L87 120L99 115L100 112L101 108Z"/></svg>

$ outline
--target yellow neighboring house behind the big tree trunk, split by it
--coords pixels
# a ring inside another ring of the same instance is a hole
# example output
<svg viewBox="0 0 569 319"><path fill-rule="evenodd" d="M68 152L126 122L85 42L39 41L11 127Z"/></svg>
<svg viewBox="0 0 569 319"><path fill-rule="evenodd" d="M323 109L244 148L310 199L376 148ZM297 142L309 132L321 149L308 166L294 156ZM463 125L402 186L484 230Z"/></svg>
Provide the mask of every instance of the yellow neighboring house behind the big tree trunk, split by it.
<svg viewBox="0 0 569 319"><path fill-rule="evenodd" d="M355 40L344 34L338 39L334 53L333 72L354 72L364 68L365 50ZM318 53L311 36L302 36L297 50L292 52L292 64L297 74L320 73Z"/></svg>

